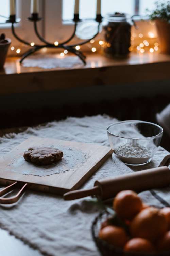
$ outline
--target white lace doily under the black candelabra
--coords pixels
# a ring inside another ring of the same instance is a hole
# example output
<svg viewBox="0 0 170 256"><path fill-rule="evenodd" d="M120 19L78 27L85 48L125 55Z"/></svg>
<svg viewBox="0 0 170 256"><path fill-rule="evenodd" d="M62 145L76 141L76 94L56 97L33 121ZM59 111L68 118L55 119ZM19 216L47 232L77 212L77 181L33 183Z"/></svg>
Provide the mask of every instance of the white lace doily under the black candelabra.
<svg viewBox="0 0 170 256"><path fill-rule="evenodd" d="M77 56L64 56L60 54L37 54L23 61L24 67L39 67L43 69L54 68L72 68L77 65L83 65L82 61Z"/></svg>

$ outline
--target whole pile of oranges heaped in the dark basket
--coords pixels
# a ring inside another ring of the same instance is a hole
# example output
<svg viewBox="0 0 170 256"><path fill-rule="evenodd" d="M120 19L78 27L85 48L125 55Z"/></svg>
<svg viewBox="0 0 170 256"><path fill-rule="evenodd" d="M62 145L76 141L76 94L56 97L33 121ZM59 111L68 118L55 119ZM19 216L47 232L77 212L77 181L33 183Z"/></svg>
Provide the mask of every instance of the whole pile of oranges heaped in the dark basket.
<svg viewBox="0 0 170 256"><path fill-rule="evenodd" d="M100 239L125 252L170 251L170 207L150 207L134 191L125 190L115 197L113 209L124 225L106 219L99 231Z"/></svg>

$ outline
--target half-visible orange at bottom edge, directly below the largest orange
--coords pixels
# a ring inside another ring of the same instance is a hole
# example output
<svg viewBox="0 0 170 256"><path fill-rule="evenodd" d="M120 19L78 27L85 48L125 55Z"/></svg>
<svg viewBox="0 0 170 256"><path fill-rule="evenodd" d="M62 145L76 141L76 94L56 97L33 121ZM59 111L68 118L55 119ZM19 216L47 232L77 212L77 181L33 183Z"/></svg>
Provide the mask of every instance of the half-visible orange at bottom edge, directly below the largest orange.
<svg viewBox="0 0 170 256"><path fill-rule="evenodd" d="M153 244L144 238L132 238L124 246L125 252L153 253L155 248Z"/></svg>

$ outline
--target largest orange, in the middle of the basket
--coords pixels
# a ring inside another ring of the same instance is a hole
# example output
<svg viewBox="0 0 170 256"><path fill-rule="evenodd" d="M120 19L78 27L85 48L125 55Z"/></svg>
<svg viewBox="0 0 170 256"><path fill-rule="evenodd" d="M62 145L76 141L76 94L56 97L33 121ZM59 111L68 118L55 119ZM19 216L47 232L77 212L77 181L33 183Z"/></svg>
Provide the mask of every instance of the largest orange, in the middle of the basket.
<svg viewBox="0 0 170 256"><path fill-rule="evenodd" d="M132 237L155 241L168 230L167 221L157 208L148 207L139 212L130 224Z"/></svg>

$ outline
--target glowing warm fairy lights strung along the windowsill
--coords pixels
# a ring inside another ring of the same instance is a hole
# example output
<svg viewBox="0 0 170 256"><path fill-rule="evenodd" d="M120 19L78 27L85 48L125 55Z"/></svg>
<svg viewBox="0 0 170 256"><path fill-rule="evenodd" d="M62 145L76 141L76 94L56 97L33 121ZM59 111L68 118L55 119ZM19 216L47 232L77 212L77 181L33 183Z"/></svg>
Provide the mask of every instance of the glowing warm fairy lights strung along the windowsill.
<svg viewBox="0 0 170 256"><path fill-rule="evenodd" d="M59 42L55 41L54 45L58 46ZM30 46L34 46L35 43L31 42ZM102 48L104 47L111 47L111 44L108 42L105 42L104 40L94 40L91 39L90 43L86 45L89 49L89 51L95 53L100 52ZM81 49L80 45L75 46L75 49L79 51ZM11 46L11 51L16 51L16 54L19 55L22 52L22 47L18 48L15 46ZM43 48L41 51L47 52L47 48ZM142 33L132 33L131 35L131 46L129 48L130 52L137 52L140 54L143 53L154 53L159 51L159 43L157 42L157 38L155 34L151 31L148 32L148 37L144 37ZM65 49L63 52L60 53L61 57L64 57L66 54L68 54L68 51Z"/></svg>

